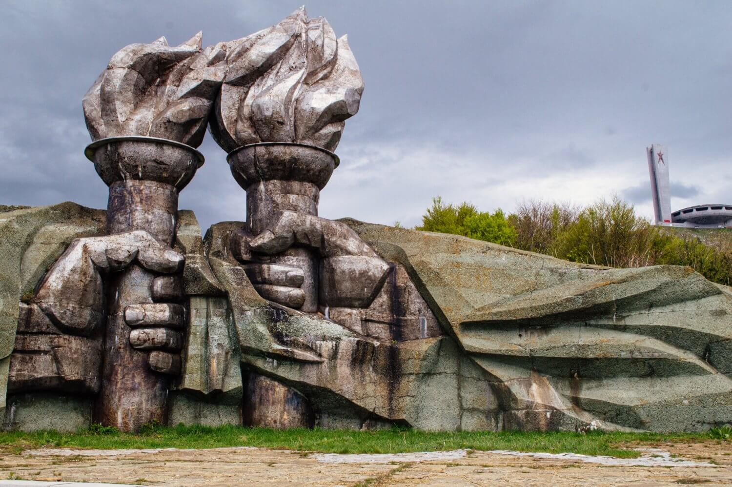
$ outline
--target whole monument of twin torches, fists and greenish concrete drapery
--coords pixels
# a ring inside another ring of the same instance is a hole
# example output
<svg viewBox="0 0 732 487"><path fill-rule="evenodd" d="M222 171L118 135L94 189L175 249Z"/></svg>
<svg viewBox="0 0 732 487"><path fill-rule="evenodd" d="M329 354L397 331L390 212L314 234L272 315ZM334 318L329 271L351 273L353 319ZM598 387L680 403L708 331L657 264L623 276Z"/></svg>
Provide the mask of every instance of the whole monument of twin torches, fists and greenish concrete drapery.
<svg viewBox="0 0 732 487"><path fill-rule="evenodd" d="M732 423L726 286L319 217L363 91L305 9L116 53L83 99L107 209L0 208L4 427ZM178 194L206 127L247 207L204 233Z"/></svg>

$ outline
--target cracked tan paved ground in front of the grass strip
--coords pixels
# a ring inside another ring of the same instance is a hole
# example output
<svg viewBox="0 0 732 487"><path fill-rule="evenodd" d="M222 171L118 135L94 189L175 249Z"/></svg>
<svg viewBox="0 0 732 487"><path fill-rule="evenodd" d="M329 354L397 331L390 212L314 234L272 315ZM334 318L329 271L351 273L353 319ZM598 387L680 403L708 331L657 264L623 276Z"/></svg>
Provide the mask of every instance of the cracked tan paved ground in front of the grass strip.
<svg viewBox="0 0 732 487"><path fill-rule="evenodd" d="M49 483L207 487L732 485L730 443L643 445L644 448L649 446L657 450L644 450L643 458L635 461L460 450L428 455L339 456L247 447L212 450L46 449L26 451L20 455L0 454L0 478L20 477ZM4 485L11 484L0 482L0 486Z"/></svg>

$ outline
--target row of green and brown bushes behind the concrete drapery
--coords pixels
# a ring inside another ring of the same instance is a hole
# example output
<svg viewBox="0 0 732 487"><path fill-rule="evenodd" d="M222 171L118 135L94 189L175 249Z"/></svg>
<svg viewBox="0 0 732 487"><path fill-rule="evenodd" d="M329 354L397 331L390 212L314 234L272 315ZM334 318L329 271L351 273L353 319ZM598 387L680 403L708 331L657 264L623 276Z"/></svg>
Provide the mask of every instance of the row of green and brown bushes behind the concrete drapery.
<svg viewBox="0 0 732 487"><path fill-rule="evenodd" d="M417 230L458 234L575 262L608 267L689 266L715 283L732 286L732 245L722 234L707 245L694 234L679 237L635 214L615 197L580 209L529 201L513 215L481 212L474 205L444 204L439 196Z"/></svg>

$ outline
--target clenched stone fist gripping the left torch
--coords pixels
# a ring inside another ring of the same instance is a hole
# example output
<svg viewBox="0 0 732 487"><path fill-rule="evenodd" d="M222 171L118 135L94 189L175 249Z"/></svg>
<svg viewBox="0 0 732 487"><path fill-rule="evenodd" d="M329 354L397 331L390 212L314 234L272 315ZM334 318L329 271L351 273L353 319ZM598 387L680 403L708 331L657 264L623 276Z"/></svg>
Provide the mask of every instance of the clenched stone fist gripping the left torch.
<svg viewBox="0 0 732 487"><path fill-rule="evenodd" d="M56 326L72 335L93 334L105 320L104 280L130 264L160 273L152 280L150 302L127 305L124 321L133 328L130 345L150 350L153 370L177 373L186 311L179 275L184 256L146 231L75 239L49 269L34 302ZM113 297L111 297L113 300Z"/></svg>

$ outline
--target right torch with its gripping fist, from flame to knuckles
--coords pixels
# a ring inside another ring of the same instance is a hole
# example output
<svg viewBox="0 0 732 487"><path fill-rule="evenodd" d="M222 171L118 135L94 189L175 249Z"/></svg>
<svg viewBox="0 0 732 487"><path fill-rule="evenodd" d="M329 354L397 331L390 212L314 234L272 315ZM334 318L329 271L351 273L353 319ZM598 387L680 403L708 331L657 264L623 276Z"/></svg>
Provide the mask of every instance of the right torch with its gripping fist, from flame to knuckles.
<svg viewBox="0 0 732 487"><path fill-rule="evenodd" d="M247 226L231 243L255 289L308 313L368 306L386 263L346 226L317 216L339 163L332 151L364 89L346 36L336 39L303 7L231 42L226 64L211 132L247 192Z"/></svg>

